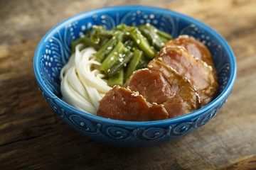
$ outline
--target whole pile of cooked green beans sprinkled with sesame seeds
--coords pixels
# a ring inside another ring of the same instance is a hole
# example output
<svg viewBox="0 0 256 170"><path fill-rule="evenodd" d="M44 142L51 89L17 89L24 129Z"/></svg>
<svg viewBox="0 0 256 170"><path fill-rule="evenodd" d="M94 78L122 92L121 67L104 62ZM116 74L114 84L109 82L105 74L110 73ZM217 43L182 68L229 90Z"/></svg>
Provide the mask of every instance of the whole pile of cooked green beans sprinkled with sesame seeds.
<svg viewBox="0 0 256 170"><path fill-rule="evenodd" d="M71 43L75 46L83 43L97 50L95 57L102 63L100 70L107 74L108 85L123 86L124 82L137 69L147 66L156 52L172 36L146 23L142 26L119 26L106 30L103 26L93 26L81 38Z"/></svg>

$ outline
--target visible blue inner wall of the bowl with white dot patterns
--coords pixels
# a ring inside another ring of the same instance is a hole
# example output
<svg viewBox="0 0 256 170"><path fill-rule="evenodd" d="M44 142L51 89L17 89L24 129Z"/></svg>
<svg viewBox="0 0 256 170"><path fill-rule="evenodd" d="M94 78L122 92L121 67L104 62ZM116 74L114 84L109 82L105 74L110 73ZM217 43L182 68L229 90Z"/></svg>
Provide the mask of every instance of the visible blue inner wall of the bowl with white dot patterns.
<svg viewBox="0 0 256 170"><path fill-rule="evenodd" d="M100 8L73 16L50 30L41 40L35 53L34 69L38 81L46 85L50 94L61 98L60 69L70 57L70 43L86 33L93 25L113 28L120 23L139 25L151 23L176 38L191 35L203 42L213 56L218 71L220 94L233 84L235 59L227 42L214 30L174 11L143 6L118 6Z"/></svg>

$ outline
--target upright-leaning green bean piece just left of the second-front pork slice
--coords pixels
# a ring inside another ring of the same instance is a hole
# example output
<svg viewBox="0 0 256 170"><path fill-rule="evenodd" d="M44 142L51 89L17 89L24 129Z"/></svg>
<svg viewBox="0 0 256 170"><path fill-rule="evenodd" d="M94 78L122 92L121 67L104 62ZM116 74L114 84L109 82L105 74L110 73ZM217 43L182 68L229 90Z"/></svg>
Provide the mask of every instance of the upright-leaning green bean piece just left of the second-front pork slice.
<svg viewBox="0 0 256 170"><path fill-rule="evenodd" d="M139 66L139 62L142 60L143 52L141 50L135 50L131 62L128 64L127 70L124 73L124 80L128 79L132 73Z"/></svg>

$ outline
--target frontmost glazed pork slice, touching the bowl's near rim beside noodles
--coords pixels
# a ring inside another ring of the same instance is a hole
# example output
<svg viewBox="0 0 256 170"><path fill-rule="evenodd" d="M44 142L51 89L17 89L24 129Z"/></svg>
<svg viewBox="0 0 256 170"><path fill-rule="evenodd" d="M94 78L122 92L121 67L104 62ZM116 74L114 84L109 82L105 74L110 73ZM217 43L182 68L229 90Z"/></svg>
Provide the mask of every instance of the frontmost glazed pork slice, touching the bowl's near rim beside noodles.
<svg viewBox="0 0 256 170"><path fill-rule="evenodd" d="M154 121L168 118L164 106L149 103L138 92L120 86L114 86L102 98L97 115L127 121Z"/></svg>

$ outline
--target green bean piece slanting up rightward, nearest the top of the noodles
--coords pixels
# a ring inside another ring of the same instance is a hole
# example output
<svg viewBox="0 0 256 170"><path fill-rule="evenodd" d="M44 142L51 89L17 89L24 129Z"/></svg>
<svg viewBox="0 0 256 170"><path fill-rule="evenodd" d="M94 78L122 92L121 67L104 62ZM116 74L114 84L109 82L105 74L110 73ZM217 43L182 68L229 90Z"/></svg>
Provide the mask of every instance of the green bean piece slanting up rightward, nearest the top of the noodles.
<svg viewBox="0 0 256 170"><path fill-rule="evenodd" d="M121 54L124 50L124 44L120 41L117 42L117 45L110 52L109 55L103 60L100 70L104 71L106 74L110 72L110 68L117 62L118 55Z"/></svg>

